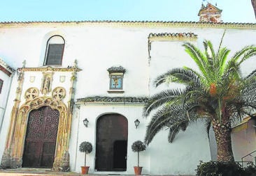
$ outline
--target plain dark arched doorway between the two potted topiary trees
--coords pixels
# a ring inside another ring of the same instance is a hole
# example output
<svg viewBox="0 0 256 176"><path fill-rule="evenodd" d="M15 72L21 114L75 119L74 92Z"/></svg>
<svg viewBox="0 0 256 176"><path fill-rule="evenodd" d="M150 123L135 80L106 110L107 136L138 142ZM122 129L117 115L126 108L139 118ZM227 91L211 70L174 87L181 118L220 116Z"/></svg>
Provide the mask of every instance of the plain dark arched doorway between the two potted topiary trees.
<svg viewBox="0 0 256 176"><path fill-rule="evenodd" d="M95 170L127 170L128 122L120 114L112 113L97 120Z"/></svg>

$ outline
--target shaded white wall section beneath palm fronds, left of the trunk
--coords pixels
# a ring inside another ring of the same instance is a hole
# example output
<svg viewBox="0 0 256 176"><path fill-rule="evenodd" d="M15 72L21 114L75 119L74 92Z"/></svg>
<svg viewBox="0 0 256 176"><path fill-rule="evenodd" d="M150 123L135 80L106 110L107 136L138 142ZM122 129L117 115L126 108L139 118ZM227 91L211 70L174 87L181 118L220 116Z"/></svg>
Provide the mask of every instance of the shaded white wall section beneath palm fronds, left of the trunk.
<svg viewBox="0 0 256 176"><path fill-rule="evenodd" d="M162 131L149 145L152 174L194 174L199 161L210 161L211 154L204 122L197 122L168 143L168 130Z"/></svg>

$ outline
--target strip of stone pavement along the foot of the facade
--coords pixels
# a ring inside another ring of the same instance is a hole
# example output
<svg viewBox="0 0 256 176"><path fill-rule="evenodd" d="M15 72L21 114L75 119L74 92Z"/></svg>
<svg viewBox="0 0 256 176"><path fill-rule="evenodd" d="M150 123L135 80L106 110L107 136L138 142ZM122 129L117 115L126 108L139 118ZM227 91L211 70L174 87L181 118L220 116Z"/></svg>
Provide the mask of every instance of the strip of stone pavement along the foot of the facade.
<svg viewBox="0 0 256 176"><path fill-rule="evenodd" d="M0 176L82 176L81 173L74 172L54 172L50 169L45 168L17 168L17 169L0 169ZM87 176L132 176L132 175L122 175L122 174L90 174ZM148 175L142 174L141 176L194 176L194 175Z"/></svg>

